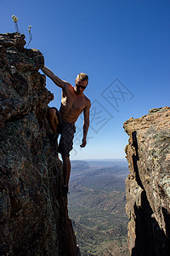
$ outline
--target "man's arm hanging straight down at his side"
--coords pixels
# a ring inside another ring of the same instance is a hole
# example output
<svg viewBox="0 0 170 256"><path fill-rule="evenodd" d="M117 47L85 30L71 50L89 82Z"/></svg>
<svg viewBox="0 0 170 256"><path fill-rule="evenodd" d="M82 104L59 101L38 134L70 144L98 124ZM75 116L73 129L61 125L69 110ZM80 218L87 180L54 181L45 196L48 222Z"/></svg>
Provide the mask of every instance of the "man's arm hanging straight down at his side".
<svg viewBox="0 0 170 256"><path fill-rule="evenodd" d="M89 113L90 113L90 107L91 102L88 102L88 106L84 108L83 114L84 114L84 122L83 122L83 138L82 138L82 145L80 145L81 148L84 148L87 144L86 137L88 134L88 127L89 127Z"/></svg>

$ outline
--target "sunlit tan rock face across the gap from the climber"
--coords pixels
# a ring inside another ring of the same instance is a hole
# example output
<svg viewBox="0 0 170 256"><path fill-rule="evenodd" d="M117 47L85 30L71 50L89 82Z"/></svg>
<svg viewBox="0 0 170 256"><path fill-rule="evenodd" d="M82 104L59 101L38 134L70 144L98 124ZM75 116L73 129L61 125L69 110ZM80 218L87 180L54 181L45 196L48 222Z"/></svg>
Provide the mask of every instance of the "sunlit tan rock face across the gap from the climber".
<svg viewBox="0 0 170 256"><path fill-rule="evenodd" d="M124 129L130 255L170 255L170 108L128 119Z"/></svg>

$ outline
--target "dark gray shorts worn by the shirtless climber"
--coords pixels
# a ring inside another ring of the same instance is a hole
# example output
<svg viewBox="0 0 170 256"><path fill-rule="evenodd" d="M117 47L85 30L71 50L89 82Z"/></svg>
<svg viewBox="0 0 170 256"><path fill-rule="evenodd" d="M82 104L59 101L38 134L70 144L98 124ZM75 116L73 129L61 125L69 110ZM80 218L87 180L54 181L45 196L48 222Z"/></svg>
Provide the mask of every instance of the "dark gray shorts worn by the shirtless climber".
<svg viewBox="0 0 170 256"><path fill-rule="evenodd" d="M76 132L76 126L71 123L62 122L61 137L57 151L64 156L69 157L73 146L73 138Z"/></svg>

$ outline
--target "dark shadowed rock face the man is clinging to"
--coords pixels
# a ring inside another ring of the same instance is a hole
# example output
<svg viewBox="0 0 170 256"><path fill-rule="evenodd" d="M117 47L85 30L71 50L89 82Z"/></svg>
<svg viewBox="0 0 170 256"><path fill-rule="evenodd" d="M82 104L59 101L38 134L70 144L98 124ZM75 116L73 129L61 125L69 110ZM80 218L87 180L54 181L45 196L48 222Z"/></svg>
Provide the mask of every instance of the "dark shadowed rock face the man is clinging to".
<svg viewBox="0 0 170 256"><path fill-rule="evenodd" d="M62 164L48 125L43 56L0 34L0 255L77 255Z"/></svg>

